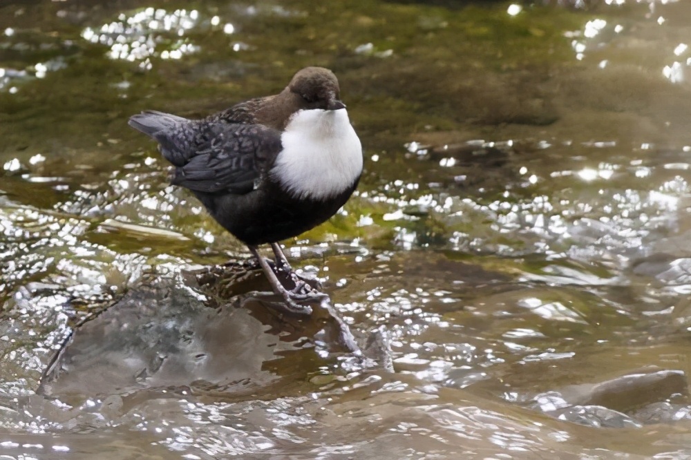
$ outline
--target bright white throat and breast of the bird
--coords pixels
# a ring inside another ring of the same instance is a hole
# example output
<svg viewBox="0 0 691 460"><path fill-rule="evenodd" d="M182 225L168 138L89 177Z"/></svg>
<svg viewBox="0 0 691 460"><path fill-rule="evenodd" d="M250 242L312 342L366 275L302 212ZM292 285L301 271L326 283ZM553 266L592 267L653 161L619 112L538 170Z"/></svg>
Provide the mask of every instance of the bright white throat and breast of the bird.
<svg viewBox="0 0 691 460"><path fill-rule="evenodd" d="M332 198L362 173L362 146L345 108L295 113L281 143L272 178L296 198Z"/></svg>

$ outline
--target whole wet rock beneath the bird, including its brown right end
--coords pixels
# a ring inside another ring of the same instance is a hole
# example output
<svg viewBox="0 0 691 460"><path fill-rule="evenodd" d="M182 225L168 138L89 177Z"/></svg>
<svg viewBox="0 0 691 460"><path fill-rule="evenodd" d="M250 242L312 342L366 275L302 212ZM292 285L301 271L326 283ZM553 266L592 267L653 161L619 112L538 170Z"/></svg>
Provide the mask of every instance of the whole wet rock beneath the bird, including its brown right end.
<svg viewBox="0 0 691 460"><path fill-rule="evenodd" d="M322 358L345 352L364 367L375 366L374 359L390 366L386 340L375 346L372 338L370 357L363 357L328 300L314 309L313 318L298 319L264 307L257 291L243 295L238 286L258 278L252 267L234 264L158 277L131 289L75 330L39 391L102 395L182 388L275 395L287 391L287 382L301 381L287 376L318 369L315 348L326 353L320 352ZM233 295L219 297L223 293ZM288 355L292 359L283 359ZM293 365L286 367L288 361Z"/></svg>

